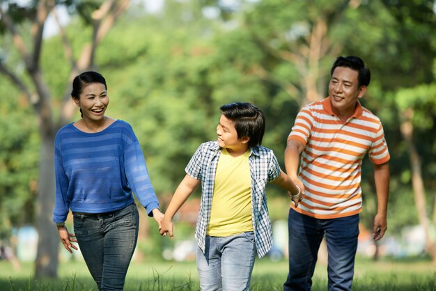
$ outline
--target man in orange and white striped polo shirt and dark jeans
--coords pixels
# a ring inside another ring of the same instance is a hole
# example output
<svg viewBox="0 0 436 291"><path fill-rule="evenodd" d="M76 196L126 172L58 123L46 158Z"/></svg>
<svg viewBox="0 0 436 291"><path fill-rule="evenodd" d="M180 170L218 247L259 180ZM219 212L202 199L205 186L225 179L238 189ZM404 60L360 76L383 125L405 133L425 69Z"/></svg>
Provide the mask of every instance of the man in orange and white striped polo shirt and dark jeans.
<svg viewBox="0 0 436 291"><path fill-rule="evenodd" d="M329 97L299 111L288 136L286 171L302 189L304 200L289 211L289 274L284 290L311 290L324 235L328 290L351 290L366 153L374 166L377 191L374 239L381 239L387 230L389 151L380 119L359 102L371 72L361 58L340 56L331 74Z"/></svg>

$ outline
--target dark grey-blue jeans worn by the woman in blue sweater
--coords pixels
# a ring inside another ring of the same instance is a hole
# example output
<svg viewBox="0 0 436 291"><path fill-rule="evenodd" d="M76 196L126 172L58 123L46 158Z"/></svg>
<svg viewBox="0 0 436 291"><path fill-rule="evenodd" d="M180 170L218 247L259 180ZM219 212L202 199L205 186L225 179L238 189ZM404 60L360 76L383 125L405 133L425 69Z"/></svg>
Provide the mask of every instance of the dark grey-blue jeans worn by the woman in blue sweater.
<svg viewBox="0 0 436 291"><path fill-rule="evenodd" d="M138 239L137 205L106 214L73 213L73 217L80 251L98 290L123 290Z"/></svg>

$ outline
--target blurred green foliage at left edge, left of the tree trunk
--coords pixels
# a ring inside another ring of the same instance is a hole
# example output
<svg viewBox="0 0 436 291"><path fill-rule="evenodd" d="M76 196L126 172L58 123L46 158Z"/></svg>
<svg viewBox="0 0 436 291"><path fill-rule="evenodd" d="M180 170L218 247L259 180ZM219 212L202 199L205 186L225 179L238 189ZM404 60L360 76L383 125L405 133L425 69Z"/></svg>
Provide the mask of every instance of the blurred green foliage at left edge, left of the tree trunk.
<svg viewBox="0 0 436 291"><path fill-rule="evenodd" d="M0 239L6 239L14 226L33 221L39 137L26 97L4 79L0 102Z"/></svg>

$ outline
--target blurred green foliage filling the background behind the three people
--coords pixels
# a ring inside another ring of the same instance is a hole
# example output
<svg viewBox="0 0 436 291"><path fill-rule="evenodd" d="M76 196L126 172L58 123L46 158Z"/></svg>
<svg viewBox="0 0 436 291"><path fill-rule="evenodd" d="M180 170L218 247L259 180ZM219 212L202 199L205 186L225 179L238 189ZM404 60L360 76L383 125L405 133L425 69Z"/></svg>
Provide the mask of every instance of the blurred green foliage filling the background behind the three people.
<svg viewBox="0 0 436 291"><path fill-rule="evenodd" d="M66 27L73 54L91 29L77 17L101 1L63 1L72 13ZM88 3L79 7L73 4ZM310 64L309 33L325 22L325 51L318 65L318 92L325 93L329 68L340 55L359 55L372 72L362 100L384 125L391 153L389 228L416 222L410 187L410 165L399 120L414 110L416 147L423 161L429 203L436 189L436 16L435 1L165 1L164 10L146 13L134 6L104 38L95 54L97 68L107 79L111 103L107 114L129 122L146 156L158 196L173 193L184 168L200 143L215 139L219 106L253 102L263 109L267 131L263 145L272 148L283 167L286 137L301 104L302 76ZM221 18L206 17L204 6L216 8ZM19 31L29 31L22 23ZM30 42L28 33L22 33ZM1 38L5 61L24 78L20 56L10 36ZM59 36L45 39L42 70L52 92L55 116L68 93L70 62ZM294 54L294 55L293 55ZM294 61L304 56L304 62ZM6 78L0 79L0 231L31 222L38 175L38 120L29 104ZM78 118L78 115L75 117ZM363 166L363 220L371 226L375 207L373 169ZM196 195L199 191L196 192ZM268 187L273 219L285 213L274 198L286 194ZM404 201L408 203L403 203ZM278 203L280 204L280 203ZM400 210L400 211L399 211ZM148 246L144 246L148 248Z"/></svg>

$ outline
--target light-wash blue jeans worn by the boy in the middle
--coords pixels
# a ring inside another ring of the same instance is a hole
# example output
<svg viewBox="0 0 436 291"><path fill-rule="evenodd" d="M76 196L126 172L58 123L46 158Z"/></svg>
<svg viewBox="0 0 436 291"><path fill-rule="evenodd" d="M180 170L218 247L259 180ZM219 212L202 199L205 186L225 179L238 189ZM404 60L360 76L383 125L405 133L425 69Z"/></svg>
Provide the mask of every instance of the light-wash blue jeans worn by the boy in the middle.
<svg viewBox="0 0 436 291"><path fill-rule="evenodd" d="M197 246L201 290L249 290L255 255L253 232L228 237L206 236L205 253Z"/></svg>

